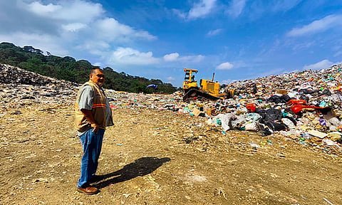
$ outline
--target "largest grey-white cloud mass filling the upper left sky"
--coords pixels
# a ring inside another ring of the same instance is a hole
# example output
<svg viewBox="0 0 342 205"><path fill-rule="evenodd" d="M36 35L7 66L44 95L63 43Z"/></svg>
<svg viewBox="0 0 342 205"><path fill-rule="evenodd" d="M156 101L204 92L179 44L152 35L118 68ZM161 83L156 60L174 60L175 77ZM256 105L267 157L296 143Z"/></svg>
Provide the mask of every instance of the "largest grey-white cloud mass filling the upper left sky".
<svg viewBox="0 0 342 205"><path fill-rule="evenodd" d="M1 1L1 0L0 0ZM53 55L86 56L104 59L123 43L152 41L157 37L106 17L101 4L83 0L16 0L0 3L1 41L17 46L34 46ZM6 9L11 8L11 10ZM24 21L23 21L24 18ZM7 21L8 20L8 21ZM71 54L78 52L76 55ZM83 57L84 58L84 57Z"/></svg>

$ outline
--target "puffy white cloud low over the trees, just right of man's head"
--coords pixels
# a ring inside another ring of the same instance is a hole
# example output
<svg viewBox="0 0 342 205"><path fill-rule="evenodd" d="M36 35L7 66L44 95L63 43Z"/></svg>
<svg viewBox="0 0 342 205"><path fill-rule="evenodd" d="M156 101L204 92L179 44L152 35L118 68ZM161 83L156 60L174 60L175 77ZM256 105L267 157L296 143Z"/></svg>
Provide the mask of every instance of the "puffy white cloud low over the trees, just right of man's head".
<svg viewBox="0 0 342 205"><path fill-rule="evenodd" d="M152 56L152 52L142 53L133 48L119 47L111 53L109 63L125 65L150 65L159 63L158 58Z"/></svg>

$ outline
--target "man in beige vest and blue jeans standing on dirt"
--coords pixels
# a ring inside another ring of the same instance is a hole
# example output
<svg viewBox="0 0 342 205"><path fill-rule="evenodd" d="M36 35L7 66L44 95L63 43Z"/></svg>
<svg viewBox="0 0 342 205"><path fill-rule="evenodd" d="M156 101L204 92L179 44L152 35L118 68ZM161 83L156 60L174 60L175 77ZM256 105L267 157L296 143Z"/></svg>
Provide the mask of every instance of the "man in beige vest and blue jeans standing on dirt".
<svg viewBox="0 0 342 205"><path fill-rule="evenodd" d="M91 69L89 81L82 85L76 98L75 127L83 147L77 190L89 195L99 192L96 187L90 186L90 181L98 169L105 127L113 125L109 102L101 88L104 82L103 70Z"/></svg>

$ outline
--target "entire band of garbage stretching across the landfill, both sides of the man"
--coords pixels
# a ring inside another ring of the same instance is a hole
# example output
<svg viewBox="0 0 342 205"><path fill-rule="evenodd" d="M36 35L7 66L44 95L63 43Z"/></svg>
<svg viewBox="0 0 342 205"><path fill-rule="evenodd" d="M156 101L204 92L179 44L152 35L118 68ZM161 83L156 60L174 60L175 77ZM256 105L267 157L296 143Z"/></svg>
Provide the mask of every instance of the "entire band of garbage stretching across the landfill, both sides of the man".
<svg viewBox="0 0 342 205"><path fill-rule="evenodd" d="M73 105L80 85L47 78L0 64L1 107L25 103ZM324 70L271 75L225 85L234 98L217 101L182 101L172 95L105 90L110 107L170 110L203 117L207 126L255 132L261 136L284 135L301 144L341 149L342 64Z"/></svg>

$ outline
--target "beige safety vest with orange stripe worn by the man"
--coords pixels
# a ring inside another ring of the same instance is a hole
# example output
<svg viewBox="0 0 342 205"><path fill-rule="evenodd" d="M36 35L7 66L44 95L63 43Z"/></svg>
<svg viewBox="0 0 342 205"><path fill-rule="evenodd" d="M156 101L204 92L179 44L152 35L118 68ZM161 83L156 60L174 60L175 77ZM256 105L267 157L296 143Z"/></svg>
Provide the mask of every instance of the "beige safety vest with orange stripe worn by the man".
<svg viewBox="0 0 342 205"><path fill-rule="evenodd" d="M95 120L95 123L99 125L101 129L105 129L105 127L113 125L113 118L112 118L112 113L110 113L110 122L107 122L106 125L106 120L105 120L105 108L106 108L106 103L107 103L107 98L105 97L105 93L100 90L98 85L96 83L93 83L92 81L88 81L87 83L84 83L80 90L78 91L78 95L76 98L76 106L75 106L75 127L78 132L85 132L86 130L90 129L90 122L84 117L83 113L78 107L78 102L79 102L79 97L81 95L81 90L85 85L90 85L90 87L94 91L94 99L93 99L93 107L91 112L93 113L93 117Z"/></svg>

